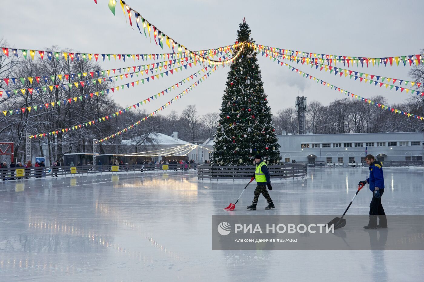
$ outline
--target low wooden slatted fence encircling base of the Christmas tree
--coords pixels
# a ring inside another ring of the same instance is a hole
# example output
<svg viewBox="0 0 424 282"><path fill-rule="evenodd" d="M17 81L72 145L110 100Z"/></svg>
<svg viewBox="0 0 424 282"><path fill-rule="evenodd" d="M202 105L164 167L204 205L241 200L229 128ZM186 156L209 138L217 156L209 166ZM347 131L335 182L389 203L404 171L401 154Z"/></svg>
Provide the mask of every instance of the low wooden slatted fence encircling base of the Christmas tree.
<svg viewBox="0 0 424 282"><path fill-rule="evenodd" d="M271 178L297 178L307 174L306 163L290 163L268 166ZM250 179L255 173L255 166L197 166L198 179Z"/></svg>

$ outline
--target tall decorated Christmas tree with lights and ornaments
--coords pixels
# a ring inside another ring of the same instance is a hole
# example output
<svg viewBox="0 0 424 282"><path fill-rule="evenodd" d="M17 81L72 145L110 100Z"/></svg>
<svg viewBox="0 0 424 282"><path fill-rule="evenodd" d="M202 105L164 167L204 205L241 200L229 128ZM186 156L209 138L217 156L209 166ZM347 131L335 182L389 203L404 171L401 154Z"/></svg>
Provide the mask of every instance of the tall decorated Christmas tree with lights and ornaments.
<svg viewBox="0 0 424 282"><path fill-rule="evenodd" d="M250 34L243 19L237 41L245 42L244 49L228 72L214 136L213 165L251 165L257 154L266 163L279 162L280 146Z"/></svg>

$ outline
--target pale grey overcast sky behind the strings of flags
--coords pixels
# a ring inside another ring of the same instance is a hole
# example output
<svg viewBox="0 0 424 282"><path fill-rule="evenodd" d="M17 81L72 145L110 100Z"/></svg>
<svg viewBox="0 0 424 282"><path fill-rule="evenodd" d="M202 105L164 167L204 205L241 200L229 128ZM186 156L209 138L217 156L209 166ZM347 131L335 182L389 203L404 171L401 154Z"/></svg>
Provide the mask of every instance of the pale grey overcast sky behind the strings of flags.
<svg viewBox="0 0 424 282"><path fill-rule="evenodd" d="M37 4L41 3L41 4ZM122 9L116 6L116 16L108 8L109 0L28 1L2 3L0 37L9 47L43 50L56 45L56 50L72 48L82 53L163 53L162 49L137 30L131 28ZM312 53L388 57L418 54L424 48L424 17L422 1L140 1L128 0L128 5L143 17L190 50L209 49L234 43L238 24L245 17L257 44L301 50ZM319 4L322 3L322 4ZM135 24L134 24L135 25ZM164 48L166 50L167 48ZM167 51L165 51L167 52ZM99 60L100 61L100 60ZM113 61L113 59L112 59ZM306 80L287 67L258 56L266 94L273 113L293 106L295 97L304 95L307 101L321 101L324 105L343 97L311 80ZM289 62L287 62L289 63ZM102 63L102 69L138 65L136 61ZM290 63L289 63L290 64ZM296 63L305 72L328 81L362 97L384 95L389 102L401 102L410 94L389 91L384 87L354 82L353 78L329 75ZM401 66L402 65L402 66ZM347 69L347 65L337 64ZM200 69L187 68L184 72L154 80L145 85L115 92L114 99L130 106L164 90ZM409 66L356 68L369 74L410 80ZM181 112L195 104L200 114L219 111L225 88L227 69L220 69L201 86L171 109ZM127 83L136 79L128 79ZM119 80L120 81L120 80ZM123 83L119 83L123 84ZM396 83L398 84L398 83ZM171 92L150 104L148 111L179 94ZM169 98L169 99L168 99Z"/></svg>

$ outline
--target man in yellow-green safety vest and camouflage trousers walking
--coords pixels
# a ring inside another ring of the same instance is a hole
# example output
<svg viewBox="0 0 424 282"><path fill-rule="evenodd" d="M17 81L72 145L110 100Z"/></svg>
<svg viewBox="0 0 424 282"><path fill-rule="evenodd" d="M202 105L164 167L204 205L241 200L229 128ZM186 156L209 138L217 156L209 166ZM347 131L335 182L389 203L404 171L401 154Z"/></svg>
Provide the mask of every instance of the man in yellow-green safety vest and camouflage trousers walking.
<svg viewBox="0 0 424 282"><path fill-rule="evenodd" d="M268 191L266 190L266 186L268 186L268 189L271 191L271 177L269 176L268 166L266 163L262 160L260 155L255 156L255 173L252 175L252 181L256 180L257 186L255 189L254 197L252 205L248 206L248 210L256 210L256 205L259 200L259 195L264 195L266 201L268 202L268 206L265 207L265 210L271 210L273 209L274 203L272 202L271 196L269 196ZM266 186L265 186L266 185Z"/></svg>

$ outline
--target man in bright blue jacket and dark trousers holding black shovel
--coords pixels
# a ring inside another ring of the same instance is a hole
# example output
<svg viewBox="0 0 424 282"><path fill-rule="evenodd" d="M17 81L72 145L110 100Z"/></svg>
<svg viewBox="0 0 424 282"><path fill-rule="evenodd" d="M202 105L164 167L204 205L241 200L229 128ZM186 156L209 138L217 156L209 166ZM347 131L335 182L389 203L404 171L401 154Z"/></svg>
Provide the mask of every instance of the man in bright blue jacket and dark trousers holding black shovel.
<svg viewBox="0 0 424 282"><path fill-rule="evenodd" d="M381 196L384 193L384 175L382 164L375 160L373 155L365 157L366 163L370 166L370 177L367 180L360 181L359 185L369 184L373 196L370 203L370 219L365 229L387 228L387 218L384 213L383 206L381 205ZM379 218L379 225L377 225L377 216Z"/></svg>

